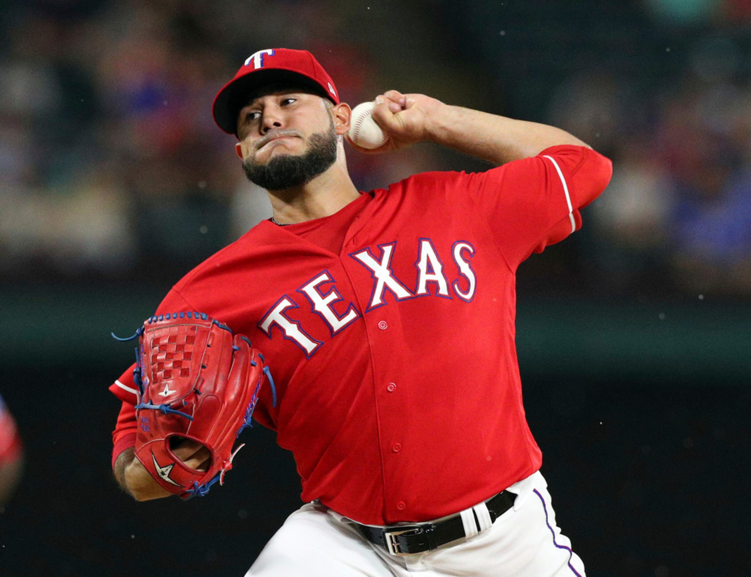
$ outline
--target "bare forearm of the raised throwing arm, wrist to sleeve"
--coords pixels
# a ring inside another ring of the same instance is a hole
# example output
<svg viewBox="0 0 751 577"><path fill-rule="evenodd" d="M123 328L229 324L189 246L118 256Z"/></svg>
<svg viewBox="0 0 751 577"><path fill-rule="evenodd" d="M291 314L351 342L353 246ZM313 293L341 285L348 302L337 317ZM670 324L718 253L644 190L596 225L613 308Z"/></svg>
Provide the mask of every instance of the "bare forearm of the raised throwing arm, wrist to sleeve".
<svg viewBox="0 0 751 577"><path fill-rule="evenodd" d="M500 165L536 156L559 144L588 146L569 132L546 124L441 105L427 119L427 138Z"/></svg>

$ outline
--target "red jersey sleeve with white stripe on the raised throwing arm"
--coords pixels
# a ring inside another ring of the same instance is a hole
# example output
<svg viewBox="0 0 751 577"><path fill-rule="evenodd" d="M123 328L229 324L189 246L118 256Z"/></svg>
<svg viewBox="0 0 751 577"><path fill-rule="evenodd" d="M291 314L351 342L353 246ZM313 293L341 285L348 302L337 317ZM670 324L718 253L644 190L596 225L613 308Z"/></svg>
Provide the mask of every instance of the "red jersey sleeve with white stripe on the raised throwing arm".
<svg viewBox="0 0 751 577"><path fill-rule="evenodd" d="M467 175L467 191L515 270L532 252L581 228L579 209L605 190L611 175L611 161L602 154L562 145Z"/></svg>

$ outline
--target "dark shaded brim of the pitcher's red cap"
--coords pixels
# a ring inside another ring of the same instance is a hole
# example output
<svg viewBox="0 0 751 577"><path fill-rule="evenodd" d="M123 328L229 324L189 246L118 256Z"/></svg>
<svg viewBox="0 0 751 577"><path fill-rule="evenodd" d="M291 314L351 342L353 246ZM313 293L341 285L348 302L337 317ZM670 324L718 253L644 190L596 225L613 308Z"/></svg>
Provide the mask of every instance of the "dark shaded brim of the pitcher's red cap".
<svg viewBox="0 0 751 577"><path fill-rule="evenodd" d="M230 80L216 95L213 115L216 124L228 134L237 135L237 116L240 109L247 105L254 90L268 84L291 84L318 94L336 104L331 96L318 82L299 72L270 68L249 72L245 76Z"/></svg>

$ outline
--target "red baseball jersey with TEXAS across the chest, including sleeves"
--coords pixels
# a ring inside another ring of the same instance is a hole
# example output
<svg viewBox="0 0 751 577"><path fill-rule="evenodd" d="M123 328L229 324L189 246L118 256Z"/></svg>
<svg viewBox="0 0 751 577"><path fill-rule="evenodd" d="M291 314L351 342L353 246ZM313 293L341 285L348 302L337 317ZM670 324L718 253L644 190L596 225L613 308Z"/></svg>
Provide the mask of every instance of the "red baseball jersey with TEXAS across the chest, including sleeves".
<svg viewBox="0 0 751 577"><path fill-rule="evenodd" d="M264 352L255 418L294 454L304 501L364 524L461 511L541 465L514 345L515 275L579 226L611 162L558 146L487 172L430 172L330 217L264 220L158 312L201 311ZM128 369L113 459L134 444Z"/></svg>

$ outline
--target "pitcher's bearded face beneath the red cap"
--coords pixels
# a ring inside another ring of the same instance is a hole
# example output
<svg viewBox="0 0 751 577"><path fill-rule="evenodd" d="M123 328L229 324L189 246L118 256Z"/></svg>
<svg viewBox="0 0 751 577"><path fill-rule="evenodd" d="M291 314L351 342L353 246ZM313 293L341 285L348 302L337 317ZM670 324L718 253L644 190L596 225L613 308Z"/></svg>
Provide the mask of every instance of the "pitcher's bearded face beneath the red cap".
<svg viewBox="0 0 751 577"><path fill-rule="evenodd" d="M237 153L246 176L267 190L297 187L336 161L336 130L327 100L304 90L271 89L237 118Z"/></svg>

